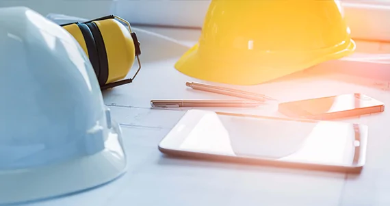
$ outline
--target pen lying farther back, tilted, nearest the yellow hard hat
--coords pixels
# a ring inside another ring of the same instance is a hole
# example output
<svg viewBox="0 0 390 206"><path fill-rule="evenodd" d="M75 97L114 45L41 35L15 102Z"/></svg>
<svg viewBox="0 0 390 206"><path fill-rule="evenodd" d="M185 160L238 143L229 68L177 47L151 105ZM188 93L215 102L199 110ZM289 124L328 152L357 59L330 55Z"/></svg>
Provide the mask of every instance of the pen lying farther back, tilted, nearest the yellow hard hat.
<svg viewBox="0 0 390 206"><path fill-rule="evenodd" d="M252 92L246 92L243 90L235 90L235 89L231 89L231 88L222 88L222 87L218 87L218 86L211 86L211 85L204 84L204 83L187 82L187 83L185 83L185 86L193 88L194 90L203 90L205 92L213 92L216 94L225 94L225 95L229 95L229 96L241 97L244 99L252 99L255 101L265 101L265 99L276 100L276 99L273 99L270 96L266 96L264 94L257 94L257 93L252 93Z"/></svg>

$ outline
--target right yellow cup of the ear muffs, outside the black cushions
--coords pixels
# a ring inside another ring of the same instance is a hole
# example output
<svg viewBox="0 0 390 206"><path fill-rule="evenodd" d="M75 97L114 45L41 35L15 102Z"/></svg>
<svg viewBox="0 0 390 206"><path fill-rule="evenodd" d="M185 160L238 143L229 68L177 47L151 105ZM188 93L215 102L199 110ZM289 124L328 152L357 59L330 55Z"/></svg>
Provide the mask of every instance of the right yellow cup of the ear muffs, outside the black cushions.
<svg viewBox="0 0 390 206"><path fill-rule="evenodd" d="M107 53L109 71L106 83L125 78L135 61L135 45L130 31L115 19L94 23L99 27Z"/></svg>

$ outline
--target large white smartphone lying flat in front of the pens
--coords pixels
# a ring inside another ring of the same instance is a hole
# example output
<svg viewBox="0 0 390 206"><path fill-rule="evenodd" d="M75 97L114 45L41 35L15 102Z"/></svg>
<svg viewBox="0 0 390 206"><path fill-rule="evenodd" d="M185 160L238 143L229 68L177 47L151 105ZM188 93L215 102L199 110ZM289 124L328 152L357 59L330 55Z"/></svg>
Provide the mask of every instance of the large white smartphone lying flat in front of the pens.
<svg viewBox="0 0 390 206"><path fill-rule="evenodd" d="M200 159L360 172L367 126L188 110L159 143L167 155Z"/></svg>

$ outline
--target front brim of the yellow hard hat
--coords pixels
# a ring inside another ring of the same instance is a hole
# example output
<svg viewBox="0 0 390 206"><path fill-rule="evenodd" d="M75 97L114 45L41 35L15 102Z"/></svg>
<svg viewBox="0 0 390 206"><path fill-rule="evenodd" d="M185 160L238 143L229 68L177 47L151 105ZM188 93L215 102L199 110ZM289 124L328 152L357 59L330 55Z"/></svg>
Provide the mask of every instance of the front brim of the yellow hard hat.
<svg viewBox="0 0 390 206"><path fill-rule="evenodd" d="M283 60L283 57L287 56L285 53L280 55L280 53L270 52L263 55L263 59L260 57L247 58L246 60L240 57L224 59L221 58L223 55L200 53L198 44L195 44L194 47L181 56L174 64L174 68L184 75L205 81L235 85L256 85L291 75L328 60L346 57L352 54L355 49L356 43L351 39L346 45L304 53L304 55L301 55L302 59L297 60L291 57L295 62L289 64L288 60ZM264 63L272 61L279 65L270 66L270 64Z"/></svg>

